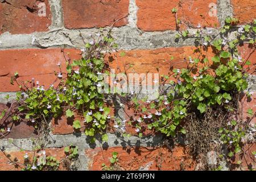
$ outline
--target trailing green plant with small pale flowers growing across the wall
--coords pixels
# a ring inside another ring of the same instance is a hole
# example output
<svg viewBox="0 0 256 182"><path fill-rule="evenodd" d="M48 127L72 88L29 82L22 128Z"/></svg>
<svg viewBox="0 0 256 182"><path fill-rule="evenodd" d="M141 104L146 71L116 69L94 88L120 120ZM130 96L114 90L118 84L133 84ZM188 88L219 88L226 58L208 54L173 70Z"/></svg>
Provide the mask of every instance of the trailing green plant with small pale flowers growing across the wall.
<svg viewBox="0 0 256 182"><path fill-rule="evenodd" d="M177 7L172 9L175 16L177 11ZM167 139L177 139L181 135L197 160L206 164L207 152L216 150L231 163L230 158L234 155L243 155L242 141L248 133L249 122L255 117L249 109L246 113L250 119L245 121L241 114L244 111L239 106L242 93L251 97L246 91L246 78L247 72L255 68L247 60L248 56L241 55L238 47L248 43L255 49L256 20L245 26L238 26L238 22L236 18L226 18L225 26L213 34L210 28L200 24L195 33L180 30L182 22L176 19L176 41L194 38L195 54L184 58L186 68L171 69L170 75L161 75L154 81L160 83L160 94L155 100L141 98L137 93L118 94L121 102L134 110L134 114L126 119L129 121L110 115L109 94L102 93L103 86L108 84L103 75L110 75L107 55L117 49L111 31L105 35L101 31L97 39L85 43L82 59L72 61L65 57L66 71L61 70L61 63L58 64L57 79L49 88L35 80L20 82L19 73L15 73L11 84L20 86L16 106L3 110L0 118L3 121L11 118L12 122L25 119L42 133L51 130L49 122L52 118L65 115L73 119L74 130L92 137L92 142L96 141L97 134L101 135L101 141L107 142L106 133L110 128L121 131L124 137L146 137L146 130L151 130L151 134L162 133ZM172 77L175 81L170 81ZM163 89L166 85L168 89ZM238 117L234 118L234 115ZM128 133L126 127L133 127L135 134ZM4 132L9 133L11 129L1 128L1 134ZM65 149L69 156L75 156L76 151L73 147ZM112 159L112 164L117 162L117 158ZM49 156L44 166L39 165L36 169L58 166L59 162ZM27 164L26 169L35 167ZM105 166L105 169L108 168Z"/></svg>

